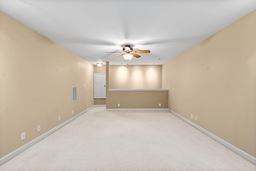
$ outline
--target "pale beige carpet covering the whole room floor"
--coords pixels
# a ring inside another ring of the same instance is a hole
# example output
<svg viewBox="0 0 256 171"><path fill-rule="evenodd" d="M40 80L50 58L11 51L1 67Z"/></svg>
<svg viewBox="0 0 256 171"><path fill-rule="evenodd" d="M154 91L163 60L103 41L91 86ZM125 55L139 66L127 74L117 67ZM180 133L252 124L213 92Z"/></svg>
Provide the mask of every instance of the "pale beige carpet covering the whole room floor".
<svg viewBox="0 0 256 171"><path fill-rule="evenodd" d="M94 107L0 171L256 171L168 111Z"/></svg>

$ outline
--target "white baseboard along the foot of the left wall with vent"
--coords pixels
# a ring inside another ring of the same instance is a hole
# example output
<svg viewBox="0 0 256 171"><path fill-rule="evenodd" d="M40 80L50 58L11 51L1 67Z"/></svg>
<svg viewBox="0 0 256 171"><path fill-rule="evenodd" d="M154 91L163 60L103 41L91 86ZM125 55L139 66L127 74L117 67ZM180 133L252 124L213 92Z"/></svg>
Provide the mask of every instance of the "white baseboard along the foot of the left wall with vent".
<svg viewBox="0 0 256 171"><path fill-rule="evenodd" d="M60 125L54 127L53 129L51 129L50 131L44 133L43 135L37 137L36 139L33 139L32 141L26 143L25 145L23 145L22 147L16 149L15 151L12 151L11 153L9 153L8 155L2 157L0 159L0 165L6 163L7 161L9 161L10 159L12 159L13 157L15 157L16 155L22 153L23 151L25 151L26 149L28 149L29 147L32 147L32 145L38 143L39 141L41 141L42 139L44 139L45 137L47 137L48 135L54 133L55 131L57 131L58 129L60 129L61 127L63 127L64 125L68 124L69 122L73 121L74 119L76 119L78 116L82 115L83 113L85 113L86 111L90 110L92 107L94 107L94 105L92 105L91 107L89 107L88 109L82 111L81 113L75 115L74 117L68 119L67 121L61 123Z"/></svg>

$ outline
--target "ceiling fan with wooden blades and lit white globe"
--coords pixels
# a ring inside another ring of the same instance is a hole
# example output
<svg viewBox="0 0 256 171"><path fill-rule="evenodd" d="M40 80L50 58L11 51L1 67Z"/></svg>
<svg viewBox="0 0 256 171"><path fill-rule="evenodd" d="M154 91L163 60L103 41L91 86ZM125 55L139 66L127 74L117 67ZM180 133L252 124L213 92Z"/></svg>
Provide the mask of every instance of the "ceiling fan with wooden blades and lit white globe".
<svg viewBox="0 0 256 171"><path fill-rule="evenodd" d="M123 52L106 52L106 53L122 53L116 58L120 58L121 56L124 56L124 59L131 60L132 57L140 58L140 55L136 53L150 53L150 50L133 50L130 45L125 45L123 48Z"/></svg>

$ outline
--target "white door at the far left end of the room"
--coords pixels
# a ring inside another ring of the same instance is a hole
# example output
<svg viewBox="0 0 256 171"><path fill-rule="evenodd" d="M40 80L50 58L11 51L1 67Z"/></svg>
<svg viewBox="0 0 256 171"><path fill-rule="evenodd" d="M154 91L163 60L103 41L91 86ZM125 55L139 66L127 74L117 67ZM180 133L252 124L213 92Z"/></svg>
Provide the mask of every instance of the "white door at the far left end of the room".
<svg viewBox="0 0 256 171"><path fill-rule="evenodd" d="M94 98L106 98L105 73L94 73Z"/></svg>

